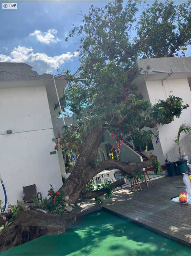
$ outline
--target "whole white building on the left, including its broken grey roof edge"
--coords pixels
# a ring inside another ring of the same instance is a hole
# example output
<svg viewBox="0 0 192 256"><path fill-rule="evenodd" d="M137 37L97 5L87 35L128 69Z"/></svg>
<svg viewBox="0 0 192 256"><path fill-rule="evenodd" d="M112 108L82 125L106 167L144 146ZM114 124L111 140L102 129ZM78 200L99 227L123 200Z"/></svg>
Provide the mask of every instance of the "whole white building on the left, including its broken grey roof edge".
<svg viewBox="0 0 192 256"><path fill-rule="evenodd" d="M59 97L67 81L56 79ZM0 174L9 204L22 200L23 186L36 184L43 197L62 186L62 152L54 152L51 118L58 116L53 77L23 63L0 63ZM8 134L7 130L12 133ZM0 199L4 201L0 186Z"/></svg>

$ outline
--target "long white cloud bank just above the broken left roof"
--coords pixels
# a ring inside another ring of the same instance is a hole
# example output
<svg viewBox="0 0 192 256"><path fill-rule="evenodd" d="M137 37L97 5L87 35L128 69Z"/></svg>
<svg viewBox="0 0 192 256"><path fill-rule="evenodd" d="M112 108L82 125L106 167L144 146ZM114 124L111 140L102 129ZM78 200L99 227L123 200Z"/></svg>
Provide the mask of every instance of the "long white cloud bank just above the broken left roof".
<svg viewBox="0 0 192 256"><path fill-rule="evenodd" d="M10 56L0 54L0 62L24 62L31 65L33 70L42 74L50 73L53 69L71 60L74 56L77 56L77 52L74 54L67 52L50 57L45 53L34 53L31 47L18 46L13 48Z"/></svg>

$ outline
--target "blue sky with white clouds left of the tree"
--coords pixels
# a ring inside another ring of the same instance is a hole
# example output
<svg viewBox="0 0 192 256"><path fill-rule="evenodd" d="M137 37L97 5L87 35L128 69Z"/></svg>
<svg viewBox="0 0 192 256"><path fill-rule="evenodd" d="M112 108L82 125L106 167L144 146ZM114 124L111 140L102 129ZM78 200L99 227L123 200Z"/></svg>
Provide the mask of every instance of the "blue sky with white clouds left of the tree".
<svg viewBox="0 0 192 256"><path fill-rule="evenodd" d="M0 2L0 62L24 62L39 74L56 74L58 66L60 70L78 66L77 55L72 55L78 48L77 38L68 42L64 38L72 24L81 23L81 11L88 13L92 4L104 7L109 1ZM2 10L3 2L17 2L17 10Z"/></svg>

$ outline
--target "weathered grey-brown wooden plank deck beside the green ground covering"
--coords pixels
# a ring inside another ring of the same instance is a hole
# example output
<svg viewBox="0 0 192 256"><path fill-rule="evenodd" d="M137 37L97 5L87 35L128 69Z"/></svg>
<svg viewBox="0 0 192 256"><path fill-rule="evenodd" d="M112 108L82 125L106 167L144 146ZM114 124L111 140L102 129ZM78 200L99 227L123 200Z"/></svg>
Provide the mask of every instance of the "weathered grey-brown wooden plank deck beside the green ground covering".
<svg viewBox="0 0 192 256"><path fill-rule="evenodd" d="M103 209L132 220L179 243L191 246L191 205L171 202L170 198L185 192L182 176L165 177L144 185L135 192L129 188L113 193L110 200L95 204L83 200L79 216ZM80 203L79 203L80 204Z"/></svg>

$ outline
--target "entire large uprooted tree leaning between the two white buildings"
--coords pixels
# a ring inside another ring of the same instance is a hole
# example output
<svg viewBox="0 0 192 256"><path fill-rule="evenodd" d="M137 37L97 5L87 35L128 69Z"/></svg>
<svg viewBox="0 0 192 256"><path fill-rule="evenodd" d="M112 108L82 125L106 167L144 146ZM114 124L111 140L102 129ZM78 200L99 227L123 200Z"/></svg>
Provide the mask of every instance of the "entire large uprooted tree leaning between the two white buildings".
<svg viewBox="0 0 192 256"><path fill-rule="evenodd" d="M190 2L175 5L172 1L156 1L151 7L143 7L136 22L140 4L128 1L123 7L122 1L114 1L102 9L91 6L89 13L82 15L82 24L74 26L69 34L69 37L81 37L80 65L75 74L70 70L63 72L68 88L62 102L65 102L63 111L74 112L77 123L63 127L55 149L61 146L78 151L71 175L61 188L72 204L80 198L97 199L109 192L106 187L86 189L89 180L100 171L116 168L134 176L137 170L157 164L156 156L134 165L112 159L98 163L98 147L106 130L111 137L116 137L112 146L116 151L124 140L143 144L147 151L154 134L145 127L169 124L188 107L181 98L174 96L152 105L143 99L132 80L137 58L184 55L185 47L190 44ZM137 37L131 37L133 26ZM144 71L148 73L149 69ZM110 186L116 188L125 182L122 178ZM0 233L0 251L41 235L65 232L75 219L75 208L62 216L35 209L20 210L16 220Z"/></svg>

